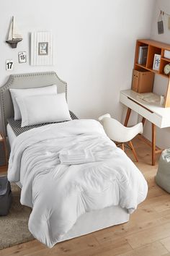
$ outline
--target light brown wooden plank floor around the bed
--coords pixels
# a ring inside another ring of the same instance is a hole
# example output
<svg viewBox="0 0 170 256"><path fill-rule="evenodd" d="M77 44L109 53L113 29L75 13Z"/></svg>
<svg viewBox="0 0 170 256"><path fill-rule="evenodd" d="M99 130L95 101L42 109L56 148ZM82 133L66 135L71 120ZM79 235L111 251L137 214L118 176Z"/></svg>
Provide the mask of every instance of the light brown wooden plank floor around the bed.
<svg viewBox="0 0 170 256"><path fill-rule="evenodd" d="M34 240L3 249L0 255L170 256L170 195L154 182L157 166L151 166L151 148L138 138L134 146L139 158L137 166L146 177L149 190L147 199L128 223L61 242L52 249ZM133 158L130 152L128 155Z"/></svg>

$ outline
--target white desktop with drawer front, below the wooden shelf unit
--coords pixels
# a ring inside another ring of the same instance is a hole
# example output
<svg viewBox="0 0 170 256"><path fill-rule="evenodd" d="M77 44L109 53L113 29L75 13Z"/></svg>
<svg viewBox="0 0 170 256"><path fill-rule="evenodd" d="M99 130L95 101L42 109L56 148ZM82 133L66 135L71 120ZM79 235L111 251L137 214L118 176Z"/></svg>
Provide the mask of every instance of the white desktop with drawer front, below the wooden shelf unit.
<svg viewBox="0 0 170 256"><path fill-rule="evenodd" d="M138 98L140 95L141 93L136 93L133 90L122 90L120 92L120 102L156 124L156 126L160 128L170 127L170 108L164 108L159 103L147 103Z"/></svg>

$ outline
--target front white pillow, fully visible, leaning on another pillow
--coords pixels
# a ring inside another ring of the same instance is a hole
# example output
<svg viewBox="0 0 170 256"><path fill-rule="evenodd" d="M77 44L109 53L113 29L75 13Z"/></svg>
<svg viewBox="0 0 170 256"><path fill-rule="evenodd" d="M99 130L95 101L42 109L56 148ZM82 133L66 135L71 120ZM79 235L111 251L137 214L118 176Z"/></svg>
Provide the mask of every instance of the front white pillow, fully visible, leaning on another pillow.
<svg viewBox="0 0 170 256"><path fill-rule="evenodd" d="M22 127L71 120L65 93L16 98L22 114Z"/></svg>

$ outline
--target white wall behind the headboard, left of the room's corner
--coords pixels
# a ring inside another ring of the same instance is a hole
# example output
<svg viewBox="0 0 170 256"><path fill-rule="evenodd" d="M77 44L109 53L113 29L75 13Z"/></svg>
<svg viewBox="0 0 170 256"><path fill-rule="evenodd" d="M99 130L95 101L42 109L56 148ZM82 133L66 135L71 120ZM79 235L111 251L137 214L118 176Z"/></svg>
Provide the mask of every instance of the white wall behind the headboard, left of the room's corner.
<svg viewBox="0 0 170 256"><path fill-rule="evenodd" d="M12 73L55 70L68 82L68 105L81 118L109 112L122 117L120 90L130 88L135 40L149 38L154 0L8 0L0 4L0 85ZM17 49L5 43L14 15L24 36ZM55 39L53 67L18 64L29 54L29 33L50 30ZM14 71L6 72L6 59ZM0 128L1 129L1 128Z"/></svg>

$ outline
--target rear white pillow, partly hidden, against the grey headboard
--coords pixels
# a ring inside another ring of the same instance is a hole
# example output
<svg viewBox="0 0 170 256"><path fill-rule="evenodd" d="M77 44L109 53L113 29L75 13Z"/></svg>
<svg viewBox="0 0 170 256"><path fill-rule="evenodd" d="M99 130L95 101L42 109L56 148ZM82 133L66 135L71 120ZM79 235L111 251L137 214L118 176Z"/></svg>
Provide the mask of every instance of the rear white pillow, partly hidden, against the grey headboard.
<svg viewBox="0 0 170 256"><path fill-rule="evenodd" d="M14 106L14 120L19 120L22 118L22 116L16 98L23 98L32 95L57 94L57 85L31 89L9 89L9 91L12 95L12 102Z"/></svg>

